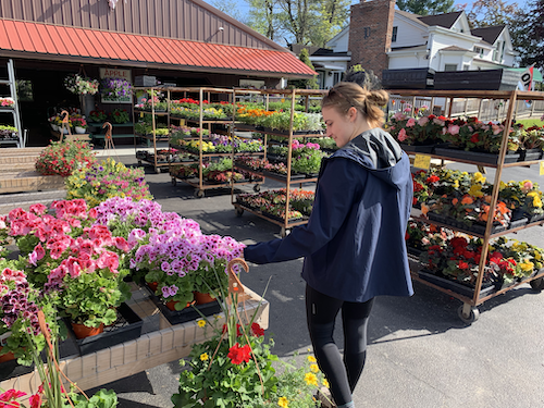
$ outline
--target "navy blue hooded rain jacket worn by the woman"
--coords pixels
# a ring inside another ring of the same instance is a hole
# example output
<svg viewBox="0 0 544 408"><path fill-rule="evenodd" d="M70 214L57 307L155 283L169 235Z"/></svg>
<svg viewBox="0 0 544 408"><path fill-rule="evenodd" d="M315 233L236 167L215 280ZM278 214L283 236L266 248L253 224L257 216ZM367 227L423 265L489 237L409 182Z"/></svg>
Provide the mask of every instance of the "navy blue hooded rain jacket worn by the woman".
<svg viewBox="0 0 544 408"><path fill-rule="evenodd" d="M345 301L410 296L405 234L411 202L408 157L388 133L367 131L323 160L308 224L248 246L244 257L255 263L305 257L308 285Z"/></svg>

